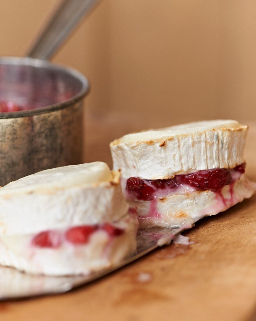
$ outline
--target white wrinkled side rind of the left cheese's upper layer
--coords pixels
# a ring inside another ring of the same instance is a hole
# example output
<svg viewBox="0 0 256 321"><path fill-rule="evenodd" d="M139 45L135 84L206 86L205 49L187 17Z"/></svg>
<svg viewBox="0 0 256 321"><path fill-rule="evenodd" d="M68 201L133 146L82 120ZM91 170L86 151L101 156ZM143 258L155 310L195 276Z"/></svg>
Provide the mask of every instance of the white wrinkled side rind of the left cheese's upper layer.
<svg viewBox="0 0 256 321"><path fill-rule="evenodd" d="M120 184L0 196L0 235L118 221L128 211Z"/></svg>

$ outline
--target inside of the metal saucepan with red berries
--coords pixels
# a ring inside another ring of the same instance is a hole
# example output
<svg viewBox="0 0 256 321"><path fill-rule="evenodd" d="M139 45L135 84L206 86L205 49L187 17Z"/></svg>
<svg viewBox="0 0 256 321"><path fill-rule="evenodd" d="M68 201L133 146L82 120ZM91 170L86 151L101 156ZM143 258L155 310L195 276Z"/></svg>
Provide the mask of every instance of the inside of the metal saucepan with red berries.
<svg viewBox="0 0 256 321"><path fill-rule="evenodd" d="M62 69L0 64L0 113L62 103L81 89L81 82Z"/></svg>

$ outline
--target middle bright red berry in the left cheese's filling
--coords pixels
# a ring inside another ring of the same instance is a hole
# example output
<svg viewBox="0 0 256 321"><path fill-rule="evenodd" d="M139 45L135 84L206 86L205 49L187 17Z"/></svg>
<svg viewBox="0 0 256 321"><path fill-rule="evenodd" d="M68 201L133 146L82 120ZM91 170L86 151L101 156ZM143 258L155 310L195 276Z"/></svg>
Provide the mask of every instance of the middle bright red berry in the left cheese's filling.
<svg viewBox="0 0 256 321"><path fill-rule="evenodd" d="M75 226L66 232L66 239L73 244L86 244L96 230L96 226Z"/></svg>

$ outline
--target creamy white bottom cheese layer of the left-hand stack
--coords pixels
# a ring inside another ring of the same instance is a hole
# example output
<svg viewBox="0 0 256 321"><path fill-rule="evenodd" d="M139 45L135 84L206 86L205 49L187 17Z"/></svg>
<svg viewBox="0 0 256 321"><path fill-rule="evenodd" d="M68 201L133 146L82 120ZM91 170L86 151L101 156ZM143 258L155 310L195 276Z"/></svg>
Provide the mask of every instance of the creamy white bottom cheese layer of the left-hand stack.
<svg viewBox="0 0 256 321"><path fill-rule="evenodd" d="M89 274L108 268L132 255L137 246L138 220L134 214L125 215L113 226L124 232L112 237L98 230L87 244L65 242L58 248L31 246L35 235L0 235L0 264L48 275Z"/></svg>

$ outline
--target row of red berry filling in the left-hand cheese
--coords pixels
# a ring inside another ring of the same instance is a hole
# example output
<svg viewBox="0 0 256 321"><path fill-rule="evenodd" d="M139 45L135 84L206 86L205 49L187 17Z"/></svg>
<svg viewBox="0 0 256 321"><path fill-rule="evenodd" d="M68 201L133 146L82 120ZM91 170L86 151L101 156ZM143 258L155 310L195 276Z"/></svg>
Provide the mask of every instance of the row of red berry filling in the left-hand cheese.
<svg viewBox="0 0 256 321"><path fill-rule="evenodd" d="M103 230L109 237L120 236L124 233L124 230L119 229L109 223L102 225L83 225L75 226L62 231L48 230L36 234L32 239L32 246L35 247L48 247L57 248L67 241L73 245L85 245L89 242L92 233Z"/></svg>

